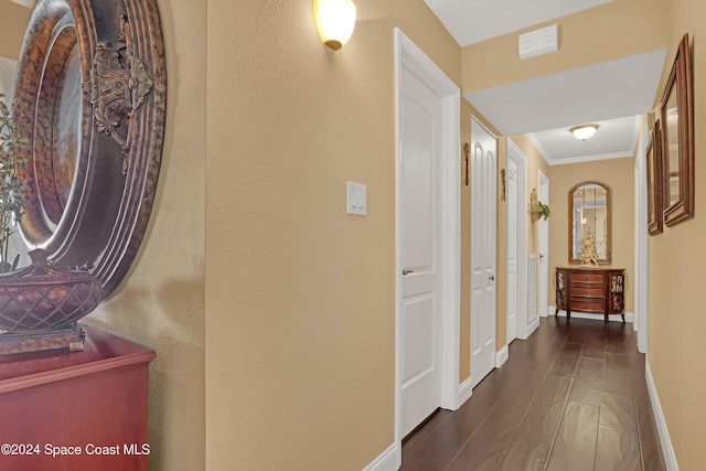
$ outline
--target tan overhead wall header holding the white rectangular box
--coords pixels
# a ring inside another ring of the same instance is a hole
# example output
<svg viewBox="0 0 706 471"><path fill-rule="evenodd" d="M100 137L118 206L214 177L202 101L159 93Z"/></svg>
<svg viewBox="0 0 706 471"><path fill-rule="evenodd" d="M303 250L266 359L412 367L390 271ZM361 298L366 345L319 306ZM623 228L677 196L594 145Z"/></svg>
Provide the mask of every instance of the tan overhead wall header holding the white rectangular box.
<svg viewBox="0 0 706 471"><path fill-rule="evenodd" d="M463 94L664 47L667 4L664 0L613 0L466 46L462 50ZM554 54L520 60L518 34L549 24L559 25L559 50ZM477 71L492 73L479 74Z"/></svg>

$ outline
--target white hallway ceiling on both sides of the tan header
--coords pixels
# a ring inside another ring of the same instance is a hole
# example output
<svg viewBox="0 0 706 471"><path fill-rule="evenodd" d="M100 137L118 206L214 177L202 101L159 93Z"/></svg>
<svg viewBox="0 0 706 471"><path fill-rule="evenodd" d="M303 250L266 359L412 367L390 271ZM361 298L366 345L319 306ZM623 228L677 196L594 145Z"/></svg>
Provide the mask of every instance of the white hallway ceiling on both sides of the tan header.
<svg viewBox="0 0 706 471"><path fill-rule="evenodd" d="M425 0L461 46L609 1ZM503 136L526 135L549 164L630 157L640 116L652 109L666 53L664 47L464 97ZM582 124L599 125L586 141L568 130Z"/></svg>

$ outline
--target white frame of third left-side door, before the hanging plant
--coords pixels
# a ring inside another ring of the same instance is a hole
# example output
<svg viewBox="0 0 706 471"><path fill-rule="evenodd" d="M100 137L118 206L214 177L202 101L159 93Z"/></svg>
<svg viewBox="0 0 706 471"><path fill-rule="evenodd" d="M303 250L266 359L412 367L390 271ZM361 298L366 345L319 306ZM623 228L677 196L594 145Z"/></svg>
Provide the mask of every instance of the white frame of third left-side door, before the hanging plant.
<svg viewBox="0 0 706 471"><path fill-rule="evenodd" d="M507 149L505 159L512 159L517 165L517 221L514 222L514 229L517 232L517 338L527 339L532 332L528 332L527 325L527 157L520 150L517 146L509 138L506 139ZM505 169L507 168L505 163ZM506 179L510 176L506 175ZM510 221L507 221L507 232L512 229ZM510 240L510 237L506 237ZM505 287L507 283L505 283ZM505 293L507 296L507 293Z"/></svg>

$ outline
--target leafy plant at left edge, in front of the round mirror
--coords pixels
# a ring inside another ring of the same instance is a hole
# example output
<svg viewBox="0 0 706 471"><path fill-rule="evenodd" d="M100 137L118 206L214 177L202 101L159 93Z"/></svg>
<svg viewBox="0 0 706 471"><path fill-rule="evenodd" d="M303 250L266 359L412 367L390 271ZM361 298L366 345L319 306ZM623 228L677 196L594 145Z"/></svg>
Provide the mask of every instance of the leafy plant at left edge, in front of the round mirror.
<svg viewBox="0 0 706 471"><path fill-rule="evenodd" d="M26 210L30 183L29 179L22 178L30 141L12 116L15 105L17 100L8 106L6 95L0 93L0 272L17 268L19 255L12 264L8 260L10 236Z"/></svg>

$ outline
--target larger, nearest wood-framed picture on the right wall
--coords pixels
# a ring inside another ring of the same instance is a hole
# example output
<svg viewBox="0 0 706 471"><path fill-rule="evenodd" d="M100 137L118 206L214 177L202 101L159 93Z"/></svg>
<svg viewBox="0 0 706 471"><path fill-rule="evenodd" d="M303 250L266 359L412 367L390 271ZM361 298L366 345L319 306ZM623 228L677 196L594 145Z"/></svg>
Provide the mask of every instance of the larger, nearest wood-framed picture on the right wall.
<svg viewBox="0 0 706 471"><path fill-rule="evenodd" d="M694 106L688 34L676 51L662 97L664 224L694 217Z"/></svg>

